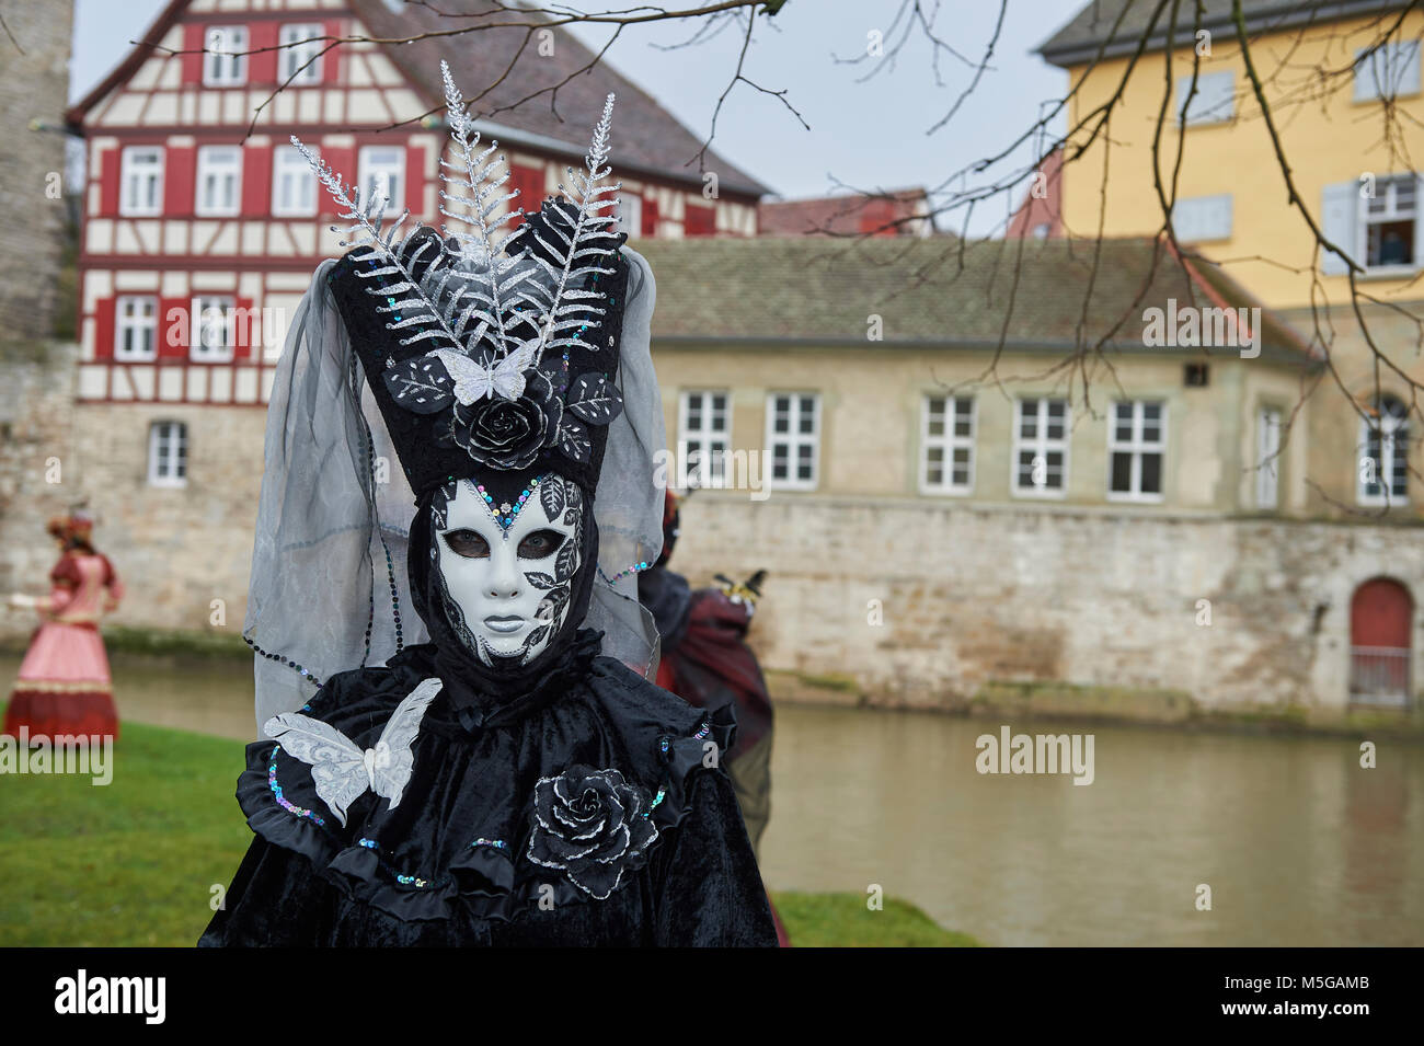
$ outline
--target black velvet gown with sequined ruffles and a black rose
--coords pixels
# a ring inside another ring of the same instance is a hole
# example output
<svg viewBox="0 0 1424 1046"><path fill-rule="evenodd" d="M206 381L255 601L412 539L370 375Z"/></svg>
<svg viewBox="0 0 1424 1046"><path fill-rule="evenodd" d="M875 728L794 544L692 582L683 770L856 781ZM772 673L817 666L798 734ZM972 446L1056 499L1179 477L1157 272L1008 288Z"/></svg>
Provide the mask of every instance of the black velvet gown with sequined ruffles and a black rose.
<svg viewBox="0 0 1424 1046"><path fill-rule="evenodd" d="M199 945L776 945L703 713L581 630L534 680L430 703L400 801L342 825L312 767L248 746L238 801L258 838ZM375 747L434 675L430 645L332 680L303 714ZM711 766L709 766L711 764Z"/></svg>

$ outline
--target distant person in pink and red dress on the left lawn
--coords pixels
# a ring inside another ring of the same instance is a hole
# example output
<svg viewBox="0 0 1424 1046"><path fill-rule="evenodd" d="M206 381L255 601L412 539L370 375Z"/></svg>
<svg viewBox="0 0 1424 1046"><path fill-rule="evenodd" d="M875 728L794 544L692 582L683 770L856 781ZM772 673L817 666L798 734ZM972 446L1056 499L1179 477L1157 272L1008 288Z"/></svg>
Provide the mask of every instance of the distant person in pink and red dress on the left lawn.
<svg viewBox="0 0 1424 1046"><path fill-rule="evenodd" d="M14 593L10 606L33 608L41 623L20 663L4 733L117 737L118 713L98 622L118 606L124 586L108 558L90 542L94 521L74 512L50 521L60 562L50 571L50 595Z"/></svg>

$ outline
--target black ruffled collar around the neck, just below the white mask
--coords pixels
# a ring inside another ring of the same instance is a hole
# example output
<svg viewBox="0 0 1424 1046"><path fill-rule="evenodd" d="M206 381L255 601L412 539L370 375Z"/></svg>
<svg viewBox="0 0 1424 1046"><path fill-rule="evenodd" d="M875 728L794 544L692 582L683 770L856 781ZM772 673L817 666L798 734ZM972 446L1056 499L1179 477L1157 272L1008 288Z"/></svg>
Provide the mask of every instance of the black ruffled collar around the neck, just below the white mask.
<svg viewBox="0 0 1424 1046"><path fill-rule="evenodd" d="M481 665L463 649L447 655L434 643L407 646L387 666L439 676L460 726L474 733L523 719L565 693L588 676L602 652L602 639L597 629L580 629L560 650L545 650L533 665L513 670Z"/></svg>

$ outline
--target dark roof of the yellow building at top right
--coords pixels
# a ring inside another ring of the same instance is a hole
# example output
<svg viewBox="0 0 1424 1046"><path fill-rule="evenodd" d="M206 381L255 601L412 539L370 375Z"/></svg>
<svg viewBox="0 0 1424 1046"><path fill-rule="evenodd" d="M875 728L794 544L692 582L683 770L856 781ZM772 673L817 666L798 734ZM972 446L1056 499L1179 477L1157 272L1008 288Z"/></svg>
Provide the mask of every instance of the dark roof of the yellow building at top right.
<svg viewBox="0 0 1424 1046"><path fill-rule="evenodd" d="M1156 0L1088 0L1067 26L1045 40L1038 53L1055 65L1078 65L1092 61L1106 41L1104 54L1121 56L1136 50L1138 41L1152 21ZM1212 31L1236 33L1232 23L1232 0L1203 0L1202 27ZM1242 14L1250 33L1284 30L1310 23L1358 17L1407 7L1405 0L1242 0ZM1158 17L1149 48L1166 44L1168 11ZM1114 31L1118 16L1122 23ZM1179 47L1192 43L1195 11L1192 4L1180 4L1173 40Z"/></svg>

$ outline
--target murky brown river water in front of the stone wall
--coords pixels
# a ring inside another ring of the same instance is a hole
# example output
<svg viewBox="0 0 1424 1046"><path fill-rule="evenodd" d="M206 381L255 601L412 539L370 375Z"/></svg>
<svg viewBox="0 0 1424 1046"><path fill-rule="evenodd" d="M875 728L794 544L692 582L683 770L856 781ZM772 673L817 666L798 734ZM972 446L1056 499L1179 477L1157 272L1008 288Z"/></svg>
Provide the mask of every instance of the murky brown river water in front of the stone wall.
<svg viewBox="0 0 1424 1046"><path fill-rule="evenodd" d="M19 659L0 657L0 682ZM117 657L124 719L255 733L242 662ZM871 885L993 945L1424 945L1424 747L1091 731L1094 781L981 774L998 720L778 709L763 875ZM1210 911L1198 909L1199 887Z"/></svg>

